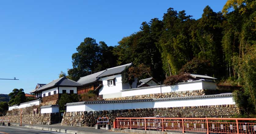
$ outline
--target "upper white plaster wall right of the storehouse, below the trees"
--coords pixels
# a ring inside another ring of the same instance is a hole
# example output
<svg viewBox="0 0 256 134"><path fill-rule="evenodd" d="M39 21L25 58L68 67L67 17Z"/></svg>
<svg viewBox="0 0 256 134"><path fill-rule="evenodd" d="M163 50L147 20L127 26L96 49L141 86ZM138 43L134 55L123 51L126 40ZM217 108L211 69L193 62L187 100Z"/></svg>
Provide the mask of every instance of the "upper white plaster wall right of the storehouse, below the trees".
<svg viewBox="0 0 256 134"><path fill-rule="evenodd" d="M216 90L216 83L204 80L196 80L191 82L178 83L177 85L171 86L162 85L162 93L202 89ZM160 85L122 90L122 97L153 93L161 93Z"/></svg>

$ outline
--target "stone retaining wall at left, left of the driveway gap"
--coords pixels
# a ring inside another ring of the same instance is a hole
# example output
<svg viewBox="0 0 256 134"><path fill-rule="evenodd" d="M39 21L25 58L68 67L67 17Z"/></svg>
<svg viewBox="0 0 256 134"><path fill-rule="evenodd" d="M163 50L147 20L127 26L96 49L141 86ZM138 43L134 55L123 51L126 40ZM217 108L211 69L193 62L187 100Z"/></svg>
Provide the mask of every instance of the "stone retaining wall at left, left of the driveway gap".
<svg viewBox="0 0 256 134"><path fill-rule="evenodd" d="M5 116L10 122L20 123L20 115ZM22 123L51 125L59 121L59 113L22 115Z"/></svg>

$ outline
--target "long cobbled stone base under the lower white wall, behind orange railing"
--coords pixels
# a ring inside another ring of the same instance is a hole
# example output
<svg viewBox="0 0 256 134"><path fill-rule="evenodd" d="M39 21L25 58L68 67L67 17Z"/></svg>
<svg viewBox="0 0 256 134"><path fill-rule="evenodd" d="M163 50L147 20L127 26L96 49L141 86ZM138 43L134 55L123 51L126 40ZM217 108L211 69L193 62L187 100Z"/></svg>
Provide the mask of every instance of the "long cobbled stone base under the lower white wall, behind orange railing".
<svg viewBox="0 0 256 134"><path fill-rule="evenodd" d="M85 126L86 124L96 124L97 118L108 117L113 125L116 117L155 117L156 115L165 117L203 117L220 115L239 115L239 108L235 105L210 105L193 107L173 107L173 108L143 108L109 111L79 111L65 112L61 125L64 126Z"/></svg>

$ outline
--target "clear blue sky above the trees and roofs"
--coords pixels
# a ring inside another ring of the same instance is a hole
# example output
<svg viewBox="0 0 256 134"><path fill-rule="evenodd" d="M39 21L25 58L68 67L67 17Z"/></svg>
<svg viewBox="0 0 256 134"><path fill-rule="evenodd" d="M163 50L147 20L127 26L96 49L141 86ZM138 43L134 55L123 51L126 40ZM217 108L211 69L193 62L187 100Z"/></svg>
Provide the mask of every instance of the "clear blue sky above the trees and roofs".
<svg viewBox="0 0 256 134"><path fill-rule="evenodd" d="M198 19L206 5L221 11L226 0L5 0L0 2L0 93L25 93L72 68L71 55L86 37L108 46L139 30L143 21L162 20L168 8Z"/></svg>

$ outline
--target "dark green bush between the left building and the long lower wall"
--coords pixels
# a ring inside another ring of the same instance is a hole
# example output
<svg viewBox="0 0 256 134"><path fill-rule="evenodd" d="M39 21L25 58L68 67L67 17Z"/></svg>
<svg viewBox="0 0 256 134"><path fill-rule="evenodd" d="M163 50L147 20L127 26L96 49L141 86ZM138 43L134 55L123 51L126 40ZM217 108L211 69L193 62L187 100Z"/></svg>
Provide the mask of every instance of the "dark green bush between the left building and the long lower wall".
<svg viewBox="0 0 256 134"><path fill-rule="evenodd" d="M61 97L59 99L58 104L60 105L60 110L66 110L66 105L67 103L72 103L72 102L78 102L79 98L76 93L74 94L68 94L68 93L63 93L61 94Z"/></svg>

